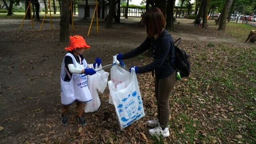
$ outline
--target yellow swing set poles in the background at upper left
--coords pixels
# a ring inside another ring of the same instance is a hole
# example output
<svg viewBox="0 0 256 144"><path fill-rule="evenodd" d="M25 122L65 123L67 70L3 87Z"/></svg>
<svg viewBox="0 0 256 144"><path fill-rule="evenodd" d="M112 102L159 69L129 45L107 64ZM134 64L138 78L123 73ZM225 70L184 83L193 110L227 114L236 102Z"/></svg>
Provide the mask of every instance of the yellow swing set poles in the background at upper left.
<svg viewBox="0 0 256 144"><path fill-rule="evenodd" d="M23 22L24 22L24 20L25 20L26 14L28 13L28 10L30 10L31 25L32 25L32 28L34 28L33 18L32 18L32 14L31 14L31 3L35 3L35 2L29 1L28 8L27 8L26 13L25 13L25 15L24 15L24 18L23 18L23 20L22 20L22 22L21 22L21 24L20 24L20 29L19 29L19 30L21 30L21 28L22 28L22 25L23 25ZM44 3L44 2L38 2L38 3ZM47 12L48 12L48 9L49 9L49 12L50 12L50 22L51 22L51 30L52 30L51 7L50 7L50 0L48 0L48 7L47 7L46 12L45 12L45 14L44 14L44 19L43 19L43 21L42 21L42 24L41 24L41 26L40 26L39 31L41 31L41 29L42 29L42 26L43 26L43 24L44 24L44 20L45 20L45 18L46 18L46 14L47 14ZM74 29L74 19L73 19L72 0L70 0L70 7L69 7L69 10L71 10L72 29ZM98 30L99 30L99 28L98 28L98 0L96 0L96 6L95 6L95 8L94 8L94 13L93 13L93 16L92 16L92 21L91 21L90 28L89 28L89 31L88 31L87 36L89 36L89 34L90 34L90 30L91 30L91 27L92 27L92 22L93 22L93 19L94 19L94 16L95 16L95 12L96 12L96 25L97 25L96 30L97 30L97 33L98 33Z"/></svg>

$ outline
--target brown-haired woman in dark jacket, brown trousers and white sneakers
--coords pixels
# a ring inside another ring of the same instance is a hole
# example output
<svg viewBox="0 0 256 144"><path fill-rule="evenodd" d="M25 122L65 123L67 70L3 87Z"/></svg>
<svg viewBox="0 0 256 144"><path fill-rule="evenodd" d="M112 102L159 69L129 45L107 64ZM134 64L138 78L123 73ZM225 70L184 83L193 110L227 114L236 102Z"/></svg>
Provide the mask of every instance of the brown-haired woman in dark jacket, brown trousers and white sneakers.
<svg viewBox="0 0 256 144"><path fill-rule="evenodd" d="M146 66L132 67L135 69L136 74L152 72L154 76L154 72L156 73L155 97L157 100L158 115L156 120L148 121L148 125L156 126L156 128L149 130L149 134L152 136L162 135L168 137L170 135L168 129L170 116L169 97L177 81L175 77L176 72L166 58L169 57L170 61L174 62L174 44L172 36L164 29L166 21L159 8L153 7L148 9L142 16L142 22L145 25L148 35L146 40L140 46L126 54L119 53L117 59L129 59L151 48L154 60Z"/></svg>

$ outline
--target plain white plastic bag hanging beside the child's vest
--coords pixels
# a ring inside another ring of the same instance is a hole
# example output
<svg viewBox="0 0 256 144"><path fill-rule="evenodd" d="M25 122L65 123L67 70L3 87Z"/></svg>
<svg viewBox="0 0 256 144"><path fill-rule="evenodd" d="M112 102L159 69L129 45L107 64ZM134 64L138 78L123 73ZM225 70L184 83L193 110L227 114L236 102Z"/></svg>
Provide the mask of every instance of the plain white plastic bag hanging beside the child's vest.
<svg viewBox="0 0 256 144"><path fill-rule="evenodd" d="M96 68L97 68L96 64ZM100 64L101 67L101 64ZM89 76L88 75L88 88L92 96L92 100L86 102L86 106L84 107L84 112L96 112L100 107L100 98L97 90L103 94L107 83L108 83L108 72L104 70L99 70L96 74Z"/></svg>

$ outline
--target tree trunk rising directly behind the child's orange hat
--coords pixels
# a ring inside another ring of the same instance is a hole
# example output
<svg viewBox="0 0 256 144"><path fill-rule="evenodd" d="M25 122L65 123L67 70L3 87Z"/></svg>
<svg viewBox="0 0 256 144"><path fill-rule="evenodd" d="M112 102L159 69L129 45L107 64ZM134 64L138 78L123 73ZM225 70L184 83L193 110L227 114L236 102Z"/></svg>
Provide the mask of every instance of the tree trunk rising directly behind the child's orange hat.
<svg viewBox="0 0 256 144"><path fill-rule="evenodd" d="M60 42L68 42L69 35L69 0L61 0L60 12Z"/></svg>

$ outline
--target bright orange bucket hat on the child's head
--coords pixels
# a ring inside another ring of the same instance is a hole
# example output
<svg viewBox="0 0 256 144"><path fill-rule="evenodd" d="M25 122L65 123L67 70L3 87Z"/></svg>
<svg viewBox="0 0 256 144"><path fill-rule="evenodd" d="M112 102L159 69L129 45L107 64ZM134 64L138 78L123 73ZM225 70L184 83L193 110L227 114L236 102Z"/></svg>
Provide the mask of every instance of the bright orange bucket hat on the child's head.
<svg viewBox="0 0 256 144"><path fill-rule="evenodd" d="M78 36L78 35L70 36L69 39L70 39L69 46L66 47L65 50L72 51L75 48L85 48L85 49L90 48L90 46L86 44L82 36Z"/></svg>

